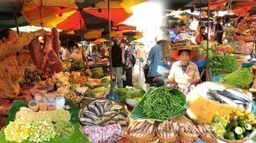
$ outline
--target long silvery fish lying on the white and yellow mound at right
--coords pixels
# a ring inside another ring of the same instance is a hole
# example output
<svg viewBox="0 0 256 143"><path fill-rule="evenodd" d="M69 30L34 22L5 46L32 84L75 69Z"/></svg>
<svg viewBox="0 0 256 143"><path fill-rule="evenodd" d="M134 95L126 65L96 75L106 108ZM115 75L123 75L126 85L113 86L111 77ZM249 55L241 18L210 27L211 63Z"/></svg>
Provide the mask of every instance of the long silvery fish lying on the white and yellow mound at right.
<svg viewBox="0 0 256 143"><path fill-rule="evenodd" d="M241 107L246 109L248 104L252 101L246 96L243 91L238 89L225 89L223 91L209 90L207 95L210 96L212 100L219 101L223 104L228 104L233 107Z"/></svg>

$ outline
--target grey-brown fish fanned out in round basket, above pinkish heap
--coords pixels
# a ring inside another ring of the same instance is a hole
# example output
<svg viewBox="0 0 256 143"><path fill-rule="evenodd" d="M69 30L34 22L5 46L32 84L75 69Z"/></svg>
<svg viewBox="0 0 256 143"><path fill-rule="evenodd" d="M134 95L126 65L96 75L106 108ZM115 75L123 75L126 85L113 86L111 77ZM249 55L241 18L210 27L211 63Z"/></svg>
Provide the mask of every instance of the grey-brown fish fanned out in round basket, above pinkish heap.
<svg viewBox="0 0 256 143"><path fill-rule="evenodd" d="M129 123L123 107L113 104L110 100L105 101L104 105L101 105L100 101L95 101L90 103L87 109L79 117L79 122L83 126L108 126L114 123L127 126Z"/></svg>

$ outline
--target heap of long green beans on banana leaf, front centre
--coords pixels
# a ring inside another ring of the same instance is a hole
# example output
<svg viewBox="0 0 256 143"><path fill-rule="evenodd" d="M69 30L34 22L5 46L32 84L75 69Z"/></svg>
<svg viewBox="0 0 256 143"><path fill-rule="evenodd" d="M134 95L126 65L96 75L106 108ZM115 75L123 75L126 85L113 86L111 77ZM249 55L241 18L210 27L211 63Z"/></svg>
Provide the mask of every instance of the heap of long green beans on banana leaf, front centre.
<svg viewBox="0 0 256 143"><path fill-rule="evenodd" d="M151 94L146 96L143 113L149 119L167 120L177 116L177 111L181 107L182 100L177 96L176 91L169 87L158 87L152 89Z"/></svg>

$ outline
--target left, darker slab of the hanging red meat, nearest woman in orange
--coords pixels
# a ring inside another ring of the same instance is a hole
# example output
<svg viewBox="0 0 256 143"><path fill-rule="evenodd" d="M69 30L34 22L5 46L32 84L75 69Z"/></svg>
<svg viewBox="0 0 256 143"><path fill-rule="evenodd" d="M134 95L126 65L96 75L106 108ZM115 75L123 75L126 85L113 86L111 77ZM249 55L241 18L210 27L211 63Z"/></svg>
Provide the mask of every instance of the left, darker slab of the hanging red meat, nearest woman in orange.
<svg viewBox="0 0 256 143"><path fill-rule="evenodd" d="M42 72L43 48L41 47L38 38L33 39L28 47L29 54L33 59L33 64L37 68L38 72Z"/></svg>

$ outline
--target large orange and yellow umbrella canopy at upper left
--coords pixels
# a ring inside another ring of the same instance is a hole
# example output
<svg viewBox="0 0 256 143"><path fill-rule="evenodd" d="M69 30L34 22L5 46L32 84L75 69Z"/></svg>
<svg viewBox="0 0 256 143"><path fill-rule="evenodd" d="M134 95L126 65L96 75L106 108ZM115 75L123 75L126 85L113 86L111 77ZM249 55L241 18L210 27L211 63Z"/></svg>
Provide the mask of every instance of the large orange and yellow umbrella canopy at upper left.
<svg viewBox="0 0 256 143"><path fill-rule="evenodd" d="M65 0L68 1L68 0ZM125 21L131 16L130 7L134 4L144 2L145 0L124 0L110 1L110 19L111 25L116 25ZM94 29L108 26L107 2L94 1L90 7L78 7L74 1L47 1L45 7L40 10L36 3L28 2L23 5L22 13L27 18L30 25L40 26L41 20L44 27L57 27L64 31L73 31L80 29ZM88 6L88 5L86 5ZM50 9L50 10L49 10Z"/></svg>

